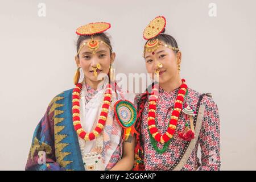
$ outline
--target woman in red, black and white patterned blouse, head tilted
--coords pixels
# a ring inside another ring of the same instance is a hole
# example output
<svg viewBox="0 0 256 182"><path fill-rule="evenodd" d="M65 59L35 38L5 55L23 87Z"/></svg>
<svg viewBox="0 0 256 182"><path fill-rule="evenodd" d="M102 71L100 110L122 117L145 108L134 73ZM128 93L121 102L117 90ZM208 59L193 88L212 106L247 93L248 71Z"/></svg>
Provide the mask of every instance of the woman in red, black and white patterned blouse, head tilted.
<svg viewBox="0 0 256 182"><path fill-rule="evenodd" d="M134 170L220 170L220 119L210 94L180 77L181 52L158 16L144 30L147 72L157 80L135 97ZM197 157L200 145L201 161Z"/></svg>

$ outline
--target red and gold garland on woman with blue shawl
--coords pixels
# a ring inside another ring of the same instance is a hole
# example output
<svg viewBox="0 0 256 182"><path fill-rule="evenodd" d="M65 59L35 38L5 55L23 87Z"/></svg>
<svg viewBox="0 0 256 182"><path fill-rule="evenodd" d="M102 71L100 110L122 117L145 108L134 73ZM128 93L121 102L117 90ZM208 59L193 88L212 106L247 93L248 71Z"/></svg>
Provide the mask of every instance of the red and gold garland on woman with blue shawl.
<svg viewBox="0 0 256 182"><path fill-rule="evenodd" d="M93 140L95 139L104 129L106 119L108 118L110 101L112 98L112 88L111 85L108 84L108 88L104 93L104 104L102 104L100 119L98 119L98 123L94 130L91 133L86 133L84 129L82 129L82 125L80 122L80 93L82 89L82 84L76 84L72 93L72 114L73 114L73 125L76 133L80 138L84 140Z"/></svg>

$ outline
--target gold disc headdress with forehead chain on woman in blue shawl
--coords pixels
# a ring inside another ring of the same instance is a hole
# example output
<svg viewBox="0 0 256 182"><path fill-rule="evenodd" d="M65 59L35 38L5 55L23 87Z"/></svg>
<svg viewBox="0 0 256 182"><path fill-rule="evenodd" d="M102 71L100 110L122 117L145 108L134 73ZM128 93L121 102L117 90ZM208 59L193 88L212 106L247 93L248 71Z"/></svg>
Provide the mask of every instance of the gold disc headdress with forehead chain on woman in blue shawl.
<svg viewBox="0 0 256 182"><path fill-rule="evenodd" d="M81 51L82 47L84 47L85 45L87 45L88 48L91 51L93 51L93 54L95 54L98 47L100 47L100 43L105 44L105 46L109 47L110 51L112 51L112 48L109 46L109 44L105 43L102 40L94 40L93 39L93 35L100 34L104 31L108 30L110 27L111 27L110 23L97 22L97 23L85 24L84 26L77 28L77 30L76 30L77 35L91 36L91 40L81 44L79 51L77 51L77 55L79 55L79 52Z"/></svg>

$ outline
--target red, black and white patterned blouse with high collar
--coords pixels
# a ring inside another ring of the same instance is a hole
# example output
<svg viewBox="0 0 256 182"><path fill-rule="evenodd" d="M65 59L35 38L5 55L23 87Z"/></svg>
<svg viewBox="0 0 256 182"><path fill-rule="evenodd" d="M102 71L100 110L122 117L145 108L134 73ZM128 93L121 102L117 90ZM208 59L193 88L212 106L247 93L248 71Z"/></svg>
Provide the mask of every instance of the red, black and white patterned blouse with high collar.
<svg viewBox="0 0 256 182"><path fill-rule="evenodd" d="M175 98L177 97L179 88L167 93L159 88L159 98L156 105L156 123L161 134L166 133L168 122L170 121L171 111L174 108ZM189 105L196 110L200 93L189 88L188 94L184 100L184 105ZM135 97L135 106L139 102L141 95ZM201 126L199 139L196 147L192 151L187 160L187 164L181 170L195 170L198 166L197 150L201 147L201 166L199 170L220 170L220 118L218 115L218 107L208 96L204 96L201 105L205 105L205 113ZM141 135L144 149L144 167L146 170L170 170L175 162L181 156L186 141L178 136L178 133L184 131L185 123L189 124L189 117L184 113L180 113L177 122L177 129L174 139L164 154L158 154L150 142L150 136L147 130L147 114L149 101L146 101L142 111ZM190 124L189 124L190 127ZM158 143L158 147L162 148L162 144Z"/></svg>

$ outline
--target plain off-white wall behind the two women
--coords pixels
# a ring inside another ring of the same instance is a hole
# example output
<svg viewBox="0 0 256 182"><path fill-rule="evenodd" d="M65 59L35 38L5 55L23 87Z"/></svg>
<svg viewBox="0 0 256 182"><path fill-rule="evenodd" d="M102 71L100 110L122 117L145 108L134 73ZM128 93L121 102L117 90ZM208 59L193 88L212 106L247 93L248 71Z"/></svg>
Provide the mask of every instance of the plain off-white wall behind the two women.
<svg viewBox="0 0 256 182"><path fill-rule="evenodd" d="M46 17L38 16L39 3ZM208 15L209 3L216 3L216 17ZM24 169L49 101L73 87L77 27L112 23L117 72L143 73L143 29L164 15L166 33L183 53L181 76L191 88L212 92L218 105L221 169L255 170L255 7L253 0L1 0L0 169Z"/></svg>

